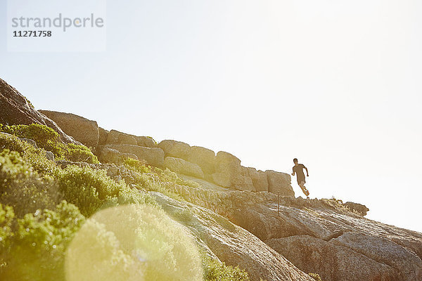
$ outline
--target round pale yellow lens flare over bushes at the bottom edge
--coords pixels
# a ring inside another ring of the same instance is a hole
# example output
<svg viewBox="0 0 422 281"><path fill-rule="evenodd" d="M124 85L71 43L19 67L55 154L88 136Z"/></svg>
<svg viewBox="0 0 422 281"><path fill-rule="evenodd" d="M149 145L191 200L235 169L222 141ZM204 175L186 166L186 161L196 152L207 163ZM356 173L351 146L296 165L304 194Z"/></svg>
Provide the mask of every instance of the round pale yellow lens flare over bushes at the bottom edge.
<svg viewBox="0 0 422 281"><path fill-rule="evenodd" d="M66 252L66 280L203 280L191 235L164 211L125 205L99 211Z"/></svg>

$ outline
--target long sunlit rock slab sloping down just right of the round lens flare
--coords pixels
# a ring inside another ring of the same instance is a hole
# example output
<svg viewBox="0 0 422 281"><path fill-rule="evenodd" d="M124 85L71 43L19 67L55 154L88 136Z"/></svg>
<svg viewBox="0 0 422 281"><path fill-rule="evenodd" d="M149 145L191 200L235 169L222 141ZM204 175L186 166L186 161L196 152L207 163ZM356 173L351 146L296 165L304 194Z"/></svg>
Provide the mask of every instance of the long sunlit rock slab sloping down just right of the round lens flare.
<svg viewBox="0 0 422 281"><path fill-rule="evenodd" d="M248 271L250 280L313 280L257 237L209 209L173 200L159 192L150 193L167 214L204 243L203 248L210 249L227 265ZM188 218L180 217L186 211Z"/></svg>

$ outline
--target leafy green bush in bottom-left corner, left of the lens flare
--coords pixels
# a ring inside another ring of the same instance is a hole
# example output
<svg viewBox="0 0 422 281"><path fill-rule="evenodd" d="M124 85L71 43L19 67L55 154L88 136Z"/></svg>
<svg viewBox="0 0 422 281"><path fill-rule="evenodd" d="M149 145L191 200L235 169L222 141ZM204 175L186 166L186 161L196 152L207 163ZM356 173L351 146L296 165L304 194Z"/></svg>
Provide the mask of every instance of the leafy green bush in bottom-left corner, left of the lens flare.
<svg viewBox="0 0 422 281"><path fill-rule="evenodd" d="M65 249L85 218L63 201L17 219L17 230L1 251L1 280L65 280Z"/></svg>

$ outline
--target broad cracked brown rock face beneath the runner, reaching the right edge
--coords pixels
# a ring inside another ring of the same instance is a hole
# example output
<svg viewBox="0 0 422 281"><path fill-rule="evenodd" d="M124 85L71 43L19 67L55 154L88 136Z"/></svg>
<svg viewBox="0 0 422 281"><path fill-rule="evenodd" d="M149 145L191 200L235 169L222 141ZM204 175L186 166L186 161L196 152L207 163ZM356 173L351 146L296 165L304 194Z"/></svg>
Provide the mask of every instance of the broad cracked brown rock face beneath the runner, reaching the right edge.
<svg viewBox="0 0 422 281"><path fill-rule="evenodd" d="M371 221L335 200L280 197L280 211L267 192L225 200L209 208L322 280L422 280L421 233Z"/></svg>

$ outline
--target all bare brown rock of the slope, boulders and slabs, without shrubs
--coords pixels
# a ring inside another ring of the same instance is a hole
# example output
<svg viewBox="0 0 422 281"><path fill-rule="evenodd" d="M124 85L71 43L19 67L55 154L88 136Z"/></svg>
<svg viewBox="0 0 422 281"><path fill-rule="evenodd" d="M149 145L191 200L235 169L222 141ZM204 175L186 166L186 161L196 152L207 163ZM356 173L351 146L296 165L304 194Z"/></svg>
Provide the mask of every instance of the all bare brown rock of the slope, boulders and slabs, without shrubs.
<svg viewBox="0 0 422 281"><path fill-rule="evenodd" d="M228 152L106 131L77 115L37 112L3 80L0 106L0 123L46 124L63 141L93 148L102 162L62 166L106 169L115 181L134 184L136 174L122 166L129 157L198 183L168 185L184 201L151 194L208 254L245 268L252 280L312 280L307 273L333 281L422 280L421 233L364 218L368 209L360 204L295 198L286 173L242 166Z"/></svg>

